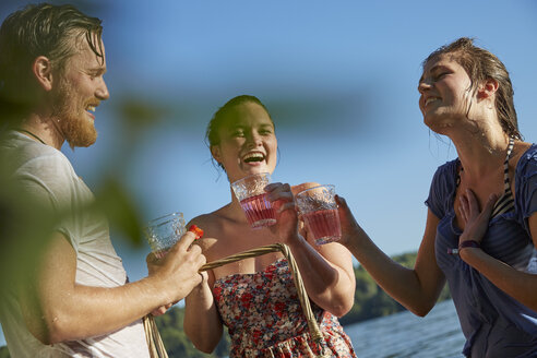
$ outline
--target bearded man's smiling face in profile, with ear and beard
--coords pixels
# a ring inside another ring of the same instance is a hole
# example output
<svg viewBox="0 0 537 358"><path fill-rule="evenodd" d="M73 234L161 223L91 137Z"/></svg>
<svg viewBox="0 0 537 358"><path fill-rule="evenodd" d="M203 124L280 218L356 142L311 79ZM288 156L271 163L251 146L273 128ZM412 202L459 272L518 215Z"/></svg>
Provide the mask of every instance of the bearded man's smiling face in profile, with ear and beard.
<svg viewBox="0 0 537 358"><path fill-rule="evenodd" d="M96 36L94 35L97 44ZM97 139L95 109L108 99L104 75L106 58L92 51L85 36L74 36L74 55L56 69L45 56L33 63L37 85L43 90L41 102L21 122L20 128L38 136L48 145L60 150L67 141L71 147L90 146Z"/></svg>

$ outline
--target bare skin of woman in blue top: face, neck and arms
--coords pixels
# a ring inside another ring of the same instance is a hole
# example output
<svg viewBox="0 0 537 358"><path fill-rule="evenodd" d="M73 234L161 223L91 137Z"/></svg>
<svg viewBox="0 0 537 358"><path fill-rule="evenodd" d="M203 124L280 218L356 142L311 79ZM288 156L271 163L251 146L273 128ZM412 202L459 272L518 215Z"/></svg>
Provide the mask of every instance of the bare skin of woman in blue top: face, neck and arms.
<svg viewBox="0 0 537 358"><path fill-rule="evenodd" d="M509 142L496 109L499 83L487 79L472 83L456 61L457 53L439 56L425 64L419 80L419 108L423 122L446 135L461 160L461 182L454 199L455 226L463 234L460 242L482 240L492 207L503 192L503 162ZM510 183L515 192L514 172L529 143L515 141L509 162ZM417 315L427 314L444 286L445 277L435 260L434 241L440 218L428 210L423 238L414 268L393 262L358 225L343 198L337 198L344 243L394 299ZM537 246L537 214L528 218L534 246ZM460 252L473 268L508 295L537 310L537 275L520 272L488 255L479 248Z"/></svg>

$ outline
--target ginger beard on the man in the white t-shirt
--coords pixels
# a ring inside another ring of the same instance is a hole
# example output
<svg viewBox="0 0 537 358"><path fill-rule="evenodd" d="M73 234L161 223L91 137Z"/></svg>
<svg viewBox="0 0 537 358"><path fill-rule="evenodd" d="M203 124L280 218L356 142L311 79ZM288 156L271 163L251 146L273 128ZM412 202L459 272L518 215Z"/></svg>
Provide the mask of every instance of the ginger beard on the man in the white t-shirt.
<svg viewBox="0 0 537 358"><path fill-rule="evenodd" d="M52 118L58 121L60 132L72 150L75 146L90 146L97 140L97 131L86 118L84 104L77 99L71 86L61 80L53 99Z"/></svg>

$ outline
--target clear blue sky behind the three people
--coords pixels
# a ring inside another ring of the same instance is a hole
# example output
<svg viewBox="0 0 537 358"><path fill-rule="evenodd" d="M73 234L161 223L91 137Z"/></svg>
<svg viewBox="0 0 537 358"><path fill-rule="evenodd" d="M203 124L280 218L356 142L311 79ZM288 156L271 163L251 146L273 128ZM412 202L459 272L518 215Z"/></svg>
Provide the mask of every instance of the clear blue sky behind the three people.
<svg viewBox="0 0 537 358"><path fill-rule="evenodd" d="M25 1L0 4L0 19ZM515 90L522 133L535 141L534 1L83 1L103 19L110 99L97 143L63 152L90 187L114 176L144 220L187 219L229 201L204 143L214 111L258 96L276 123L277 181L333 183L387 254L418 249L431 177L456 156L422 123L421 61L461 36L496 53ZM160 121L133 134L124 98ZM131 279L147 247L112 237ZM0 337L0 344L3 339Z"/></svg>

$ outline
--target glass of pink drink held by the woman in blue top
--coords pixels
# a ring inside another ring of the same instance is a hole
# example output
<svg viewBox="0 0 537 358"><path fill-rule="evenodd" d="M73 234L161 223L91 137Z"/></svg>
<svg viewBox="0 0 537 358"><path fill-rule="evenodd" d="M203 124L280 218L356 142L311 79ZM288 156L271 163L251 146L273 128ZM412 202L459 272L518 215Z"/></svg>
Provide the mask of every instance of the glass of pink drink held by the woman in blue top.
<svg viewBox="0 0 537 358"><path fill-rule="evenodd" d="M298 208L315 244L342 238L339 213L334 195L335 187L331 184L306 189L296 195Z"/></svg>

